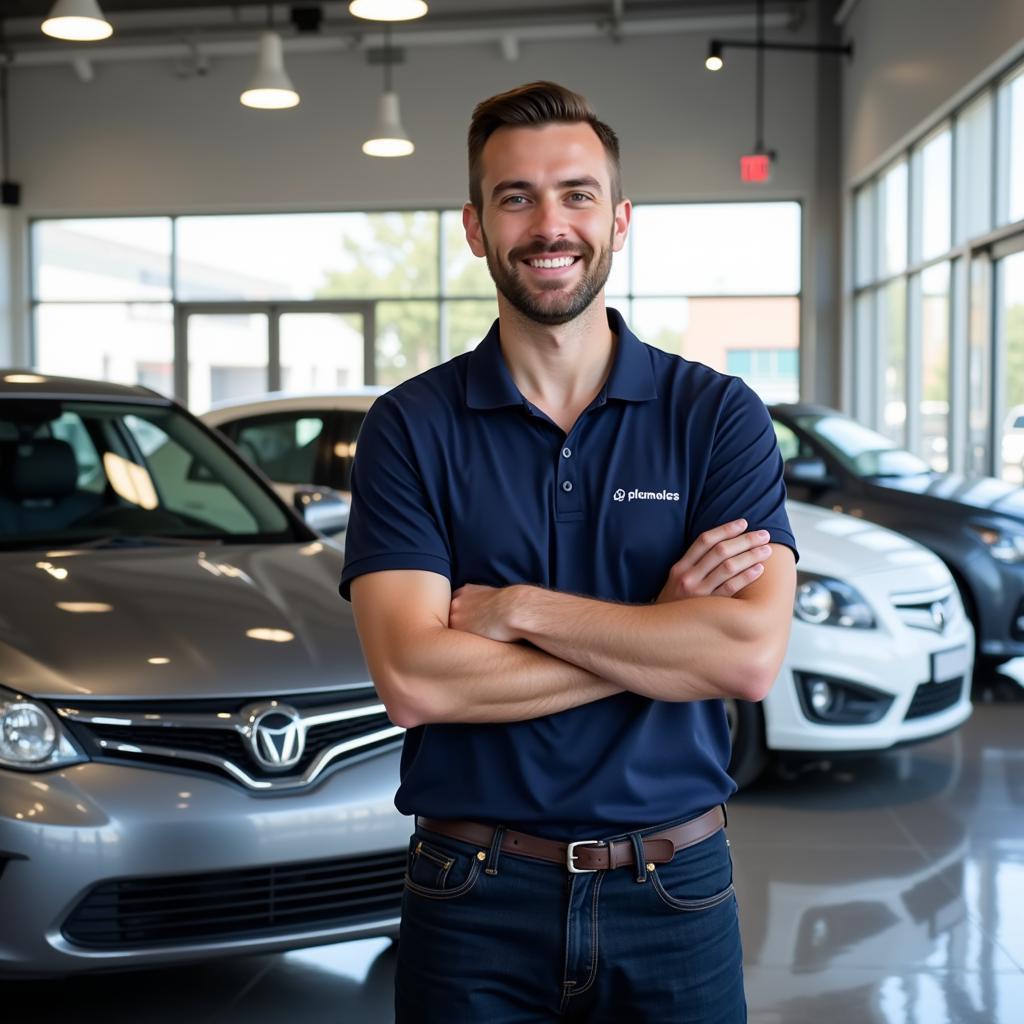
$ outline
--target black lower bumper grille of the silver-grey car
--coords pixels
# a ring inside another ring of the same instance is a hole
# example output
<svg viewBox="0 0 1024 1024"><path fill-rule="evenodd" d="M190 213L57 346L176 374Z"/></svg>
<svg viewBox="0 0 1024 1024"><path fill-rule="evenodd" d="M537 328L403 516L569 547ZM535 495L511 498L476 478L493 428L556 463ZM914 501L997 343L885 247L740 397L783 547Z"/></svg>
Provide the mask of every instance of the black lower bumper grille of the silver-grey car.
<svg viewBox="0 0 1024 1024"><path fill-rule="evenodd" d="M93 948L217 942L397 919L407 852L118 879L89 892L65 938Z"/></svg>

